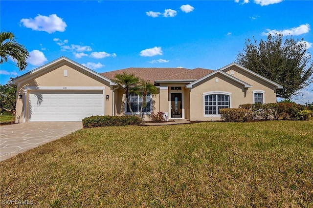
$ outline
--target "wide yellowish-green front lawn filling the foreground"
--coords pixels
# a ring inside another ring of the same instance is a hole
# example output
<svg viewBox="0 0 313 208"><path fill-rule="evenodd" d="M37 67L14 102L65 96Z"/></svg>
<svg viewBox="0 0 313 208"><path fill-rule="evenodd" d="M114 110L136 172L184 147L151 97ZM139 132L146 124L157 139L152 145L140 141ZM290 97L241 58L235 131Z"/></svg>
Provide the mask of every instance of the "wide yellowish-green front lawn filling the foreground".
<svg viewBox="0 0 313 208"><path fill-rule="evenodd" d="M82 129L1 162L40 207L313 207L313 121Z"/></svg>

